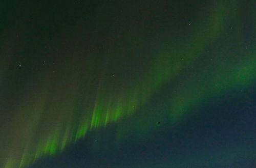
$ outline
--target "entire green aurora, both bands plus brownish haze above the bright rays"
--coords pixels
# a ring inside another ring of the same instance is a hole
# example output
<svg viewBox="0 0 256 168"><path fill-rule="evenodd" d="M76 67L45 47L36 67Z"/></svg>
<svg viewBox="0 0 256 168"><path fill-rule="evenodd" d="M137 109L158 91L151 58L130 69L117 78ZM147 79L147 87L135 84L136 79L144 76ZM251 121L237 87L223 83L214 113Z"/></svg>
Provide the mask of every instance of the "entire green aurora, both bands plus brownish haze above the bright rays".
<svg viewBox="0 0 256 168"><path fill-rule="evenodd" d="M201 25L198 25L189 37L184 35L182 42L169 44L164 47L167 49L160 50L154 63L134 83L116 87L116 83L105 77L109 74L108 66L103 68L103 71L97 71L97 66L90 66L90 62L86 63L88 65L83 69L86 71L86 77L82 80L86 80L86 83L80 82L81 76L71 72L68 74L68 80L65 76L60 77L59 80L63 81L60 85L49 82L48 76L41 79L42 82L36 88L29 90L22 97L16 109L18 113L13 119L15 126L12 126L11 130L13 134L22 135L18 139L18 146L21 148L17 149L18 152L7 149L8 159L3 167L26 167L41 157L62 152L68 145L86 136L88 131L131 117L137 108L145 105L165 83L172 82L185 68L193 65L209 45L218 41L227 20L236 16L231 9L238 8L237 1L230 2L216 1L212 4L212 9L207 17L202 19ZM256 63L253 59L255 54L255 51L248 52L241 62L226 62L219 67L207 67L195 78L189 78L184 85L178 87L177 94L170 95L169 119L173 122L179 121L184 109L187 111L193 108L207 97L250 86L256 76ZM90 61L94 61L92 57ZM6 60L5 63L7 62ZM226 65L228 67L225 67ZM202 76L207 76L212 71L215 73L197 83ZM2 70L1 76L3 72ZM92 81L92 72L98 77L96 82ZM209 82L218 85L207 87ZM64 88L66 93L61 91ZM194 94L195 92L197 94ZM145 130L150 132L147 126L144 126L143 131Z"/></svg>

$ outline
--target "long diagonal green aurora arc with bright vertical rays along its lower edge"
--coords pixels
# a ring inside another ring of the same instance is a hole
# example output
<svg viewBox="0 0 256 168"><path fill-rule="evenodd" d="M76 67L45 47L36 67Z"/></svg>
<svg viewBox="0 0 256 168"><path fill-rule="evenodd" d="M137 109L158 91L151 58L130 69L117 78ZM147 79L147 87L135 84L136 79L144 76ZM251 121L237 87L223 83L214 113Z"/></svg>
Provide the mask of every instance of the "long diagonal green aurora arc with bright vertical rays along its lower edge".
<svg viewBox="0 0 256 168"><path fill-rule="evenodd" d="M43 139L41 144L35 147L35 158L41 157L42 155L52 156L56 152L63 150L66 145L86 135L87 131L104 126L110 122L116 122L120 118L134 113L134 106L141 106L147 102L164 83L177 76L183 67L193 63L198 55L204 51L205 47L218 38L224 26L223 19L229 16L224 15L226 10L223 9L223 3L218 2L216 5L216 8L212 10L210 18L208 18L209 20L206 20L210 24L208 27L203 27L208 32L202 32L200 29L195 30L194 34L188 40L182 42L189 44L188 47L184 48L182 44L177 44L176 46L170 45L166 51L160 51L154 66L141 78L139 84L136 87L127 88L125 92L122 92L122 95L99 91L92 116L87 116L86 120L78 124L76 130L66 133L63 136L59 135L58 132L48 135L47 141ZM220 20L219 18L223 19ZM198 97L202 96L198 95ZM189 100L190 97L191 95L188 95L184 99ZM106 103L106 100L110 103ZM193 100L196 100L196 98L193 97ZM174 104L177 104L178 107L184 105L181 101L177 101ZM179 110L174 110L180 113ZM147 125L144 123L143 130L145 129L147 129ZM31 150L33 153L34 149ZM29 161L30 156L26 160Z"/></svg>

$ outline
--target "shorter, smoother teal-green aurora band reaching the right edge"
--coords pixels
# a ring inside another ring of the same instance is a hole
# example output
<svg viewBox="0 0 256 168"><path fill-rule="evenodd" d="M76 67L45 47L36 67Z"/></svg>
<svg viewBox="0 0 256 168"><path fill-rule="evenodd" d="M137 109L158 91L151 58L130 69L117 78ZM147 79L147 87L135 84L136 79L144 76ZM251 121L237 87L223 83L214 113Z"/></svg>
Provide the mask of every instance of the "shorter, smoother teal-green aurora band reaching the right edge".
<svg viewBox="0 0 256 168"><path fill-rule="evenodd" d="M203 102L205 98L224 94L236 88L242 90L252 85L256 76L254 55L256 53L244 55L245 60L239 61L237 65L231 65L228 68L228 64L225 64L210 69L216 71L213 74L211 71L205 70L196 78L194 77L189 82L183 83L183 87L179 88L178 94L173 96L171 102L172 109L170 109L170 113L172 119L174 121L178 120L184 115L184 111L188 111L196 104ZM202 78L204 80L198 82Z"/></svg>

